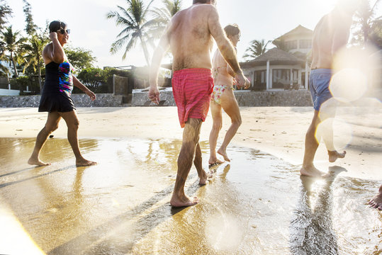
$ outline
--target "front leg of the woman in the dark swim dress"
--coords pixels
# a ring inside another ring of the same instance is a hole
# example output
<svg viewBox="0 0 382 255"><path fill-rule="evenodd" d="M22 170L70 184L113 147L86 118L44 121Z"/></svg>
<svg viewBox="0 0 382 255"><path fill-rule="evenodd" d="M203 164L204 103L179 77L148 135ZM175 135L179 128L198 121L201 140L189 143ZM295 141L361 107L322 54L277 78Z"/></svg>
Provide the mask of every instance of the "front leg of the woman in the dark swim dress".
<svg viewBox="0 0 382 255"><path fill-rule="evenodd" d="M74 156L76 157L77 166L91 166L96 164L96 162L91 162L82 157L82 154L79 150L77 130L79 127L79 120L77 117L76 111L69 111L66 113L59 113L61 117L67 123L67 140L69 141L70 146L73 149Z"/></svg>

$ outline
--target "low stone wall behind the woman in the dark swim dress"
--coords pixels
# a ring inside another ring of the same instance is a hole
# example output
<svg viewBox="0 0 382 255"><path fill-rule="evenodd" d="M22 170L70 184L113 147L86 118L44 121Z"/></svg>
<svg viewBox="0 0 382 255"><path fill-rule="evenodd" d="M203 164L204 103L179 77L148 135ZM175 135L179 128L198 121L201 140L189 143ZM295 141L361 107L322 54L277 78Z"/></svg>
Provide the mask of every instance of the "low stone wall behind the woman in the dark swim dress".
<svg viewBox="0 0 382 255"><path fill-rule="evenodd" d="M120 107L123 106L123 96L113 94L97 94L95 101L91 101L86 94L72 94L76 107ZM38 107L40 95L36 96L0 96L0 107L21 108Z"/></svg>

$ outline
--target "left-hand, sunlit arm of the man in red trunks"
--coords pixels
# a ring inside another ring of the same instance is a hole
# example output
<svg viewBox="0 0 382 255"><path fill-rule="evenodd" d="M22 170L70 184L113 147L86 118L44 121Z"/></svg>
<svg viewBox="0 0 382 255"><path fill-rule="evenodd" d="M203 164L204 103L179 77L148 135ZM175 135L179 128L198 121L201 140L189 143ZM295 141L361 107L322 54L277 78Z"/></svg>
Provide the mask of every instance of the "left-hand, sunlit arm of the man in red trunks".
<svg viewBox="0 0 382 255"><path fill-rule="evenodd" d="M162 62L164 54L169 50L169 30L171 27L171 22L166 28L166 31L159 40L157 49L155 49L152 55L152 62L150 66L150 89L149 98L153 103L159 103L159 91L158 91L158 74L160 63Z"/></svg>

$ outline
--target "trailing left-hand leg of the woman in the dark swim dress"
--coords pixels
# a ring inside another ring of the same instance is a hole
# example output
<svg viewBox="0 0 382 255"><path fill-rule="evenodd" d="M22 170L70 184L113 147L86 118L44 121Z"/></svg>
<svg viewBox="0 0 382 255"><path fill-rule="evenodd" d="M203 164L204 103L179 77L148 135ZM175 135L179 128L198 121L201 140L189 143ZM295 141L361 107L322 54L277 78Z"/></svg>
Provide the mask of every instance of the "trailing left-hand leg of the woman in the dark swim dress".
<svg viewBox="0 0 382 255"><path fill-rule="evenodd" d="M28 164L47 166L50 163L45 163L40 160L40 151L45 144L47 137L58 128L58 123L60 122L61 116L57 112L47 113L47 122L45 126L37 135L35 148L33 149L32 155L28 159Z"/></svg>

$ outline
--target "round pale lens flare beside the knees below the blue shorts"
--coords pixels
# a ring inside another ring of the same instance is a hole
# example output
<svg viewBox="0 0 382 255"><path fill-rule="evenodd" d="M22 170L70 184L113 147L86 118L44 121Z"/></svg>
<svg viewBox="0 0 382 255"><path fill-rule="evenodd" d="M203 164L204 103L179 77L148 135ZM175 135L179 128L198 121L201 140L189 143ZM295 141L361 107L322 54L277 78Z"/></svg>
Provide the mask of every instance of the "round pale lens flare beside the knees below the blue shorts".
<svg viewBox="0 0 382 255"><path fill-rule="evenodd" d="M328 150L341 151L352 142L352 126L344 120L327 118L318 125L315 137L320 142L324 140Z"/></svg>

